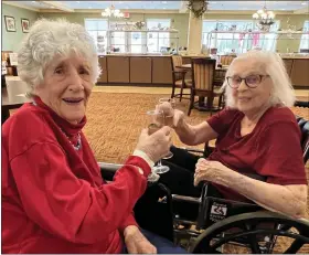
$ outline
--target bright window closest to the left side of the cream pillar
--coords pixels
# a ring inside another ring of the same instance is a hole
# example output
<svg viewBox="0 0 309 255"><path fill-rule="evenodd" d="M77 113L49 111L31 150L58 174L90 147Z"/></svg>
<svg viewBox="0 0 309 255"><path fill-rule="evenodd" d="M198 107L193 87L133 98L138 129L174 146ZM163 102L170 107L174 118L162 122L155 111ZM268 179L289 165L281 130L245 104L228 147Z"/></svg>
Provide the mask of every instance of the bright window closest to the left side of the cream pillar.
<svg viewBox="0 0 309 255"><path fill-rule="evenodd" d="M147 29L147 49L150 53L161 52L163 47L170 46L170 32L156 32L153 30L170 29L171 20L169 19L148 19ZM153 31L153 32L152 32Z"/></svg>

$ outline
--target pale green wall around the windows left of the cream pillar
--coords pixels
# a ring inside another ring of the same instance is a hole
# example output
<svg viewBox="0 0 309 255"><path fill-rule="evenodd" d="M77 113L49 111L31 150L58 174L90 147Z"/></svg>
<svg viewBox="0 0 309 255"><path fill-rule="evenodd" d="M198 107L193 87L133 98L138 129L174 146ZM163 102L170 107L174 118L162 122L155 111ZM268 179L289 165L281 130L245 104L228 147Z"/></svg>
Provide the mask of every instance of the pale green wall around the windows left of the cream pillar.
<svg viewBox="0 0 309 255"><path fill-rule="evenodd" d="M40 13L40 17L56 19L65 17L71 22L84 25L86 18L102 18L100 13ZM129 21L146 21L147 19L171 19L171 25L179 30L179 46L185 46L188 40L189 14L185 13L130 13Z"/></svg>

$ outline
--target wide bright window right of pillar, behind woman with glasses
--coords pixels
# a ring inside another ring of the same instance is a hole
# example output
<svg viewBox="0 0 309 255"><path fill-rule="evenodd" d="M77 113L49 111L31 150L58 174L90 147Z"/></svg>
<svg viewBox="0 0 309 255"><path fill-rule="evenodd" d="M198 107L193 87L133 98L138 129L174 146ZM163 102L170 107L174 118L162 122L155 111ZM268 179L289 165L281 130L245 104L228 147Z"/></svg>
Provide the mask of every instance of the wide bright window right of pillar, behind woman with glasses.
<svg viewBox="0 0 309 255"><path fill-rule="evenodd" d="M277 31L278 28L279 22L276 21L270 26L270 32ZM243 53L253 47L275 51L277 34L263 33L256 30L257 25L252 20L203 21L202 43L207 47L217 49L220 54Z"/></svg>

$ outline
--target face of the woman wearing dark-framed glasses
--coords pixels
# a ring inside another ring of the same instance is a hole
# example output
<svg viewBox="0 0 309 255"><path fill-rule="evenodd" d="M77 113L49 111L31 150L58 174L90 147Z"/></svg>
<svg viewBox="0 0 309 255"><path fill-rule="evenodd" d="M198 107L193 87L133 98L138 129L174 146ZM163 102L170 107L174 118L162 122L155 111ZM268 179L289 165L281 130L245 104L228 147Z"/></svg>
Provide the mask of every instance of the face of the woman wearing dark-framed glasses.
<svg viewBox="0 0 309 255"><path fill-rule="evenodd" d="M247 77L247 83L252 86L247 86L243 79L238 87L232 88L237 109L244 114L258 114L268 108L273 82L263 64L255 60L238 60L231 67L228 76L234 79L234 84L239 83L239 78Z"/></svg>

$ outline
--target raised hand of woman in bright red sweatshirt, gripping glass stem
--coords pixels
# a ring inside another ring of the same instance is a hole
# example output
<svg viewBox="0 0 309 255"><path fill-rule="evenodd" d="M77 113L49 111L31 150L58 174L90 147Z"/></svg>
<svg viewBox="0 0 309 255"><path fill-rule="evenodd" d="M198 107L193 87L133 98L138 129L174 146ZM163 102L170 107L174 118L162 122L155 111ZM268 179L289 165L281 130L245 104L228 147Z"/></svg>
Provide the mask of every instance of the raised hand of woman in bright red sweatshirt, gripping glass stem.
<svg viewBox="0 0 309 255"><path fill-rule="evenodd" d="M148 129L143 129L136 149L143 151L153 162L157 162L169 153L171 145L171 128L164 126L152 135L148 135Z"/></svg>

